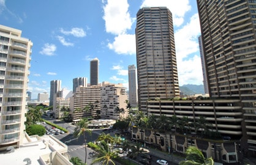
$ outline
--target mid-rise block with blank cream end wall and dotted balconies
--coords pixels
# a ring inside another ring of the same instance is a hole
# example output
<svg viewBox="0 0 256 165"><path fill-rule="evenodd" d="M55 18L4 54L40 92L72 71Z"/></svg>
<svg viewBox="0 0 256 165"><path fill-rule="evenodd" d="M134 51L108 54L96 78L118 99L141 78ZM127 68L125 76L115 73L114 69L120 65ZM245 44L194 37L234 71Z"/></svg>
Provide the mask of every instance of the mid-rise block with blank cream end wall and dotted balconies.
<svg viewBox="0 0 256 165"><path fill-rule="evenodd" d="M101 111L100 116L104 119L115 119L127 117L126 87L122 84L111 84L110 82L102 82L101 87ZM124 113L116 112L116 108L124 109Z"/></svg>

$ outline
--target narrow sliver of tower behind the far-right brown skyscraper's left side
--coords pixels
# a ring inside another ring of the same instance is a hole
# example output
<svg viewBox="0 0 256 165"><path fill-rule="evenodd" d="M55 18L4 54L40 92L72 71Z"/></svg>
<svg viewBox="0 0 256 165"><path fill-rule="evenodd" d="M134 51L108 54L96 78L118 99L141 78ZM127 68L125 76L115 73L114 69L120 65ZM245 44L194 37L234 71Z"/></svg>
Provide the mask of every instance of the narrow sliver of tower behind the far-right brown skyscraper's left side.
<svg viewBox="0 0 256 165"><path fill-rule="evenodd" d="M203 71L203 87L205 88L205 94L209 94L208 80L206 77L206 68L205 68L205 56L203 56L203 44L201 43L201 35L198 37L199 51L201 57L201 68Z"/></svg>

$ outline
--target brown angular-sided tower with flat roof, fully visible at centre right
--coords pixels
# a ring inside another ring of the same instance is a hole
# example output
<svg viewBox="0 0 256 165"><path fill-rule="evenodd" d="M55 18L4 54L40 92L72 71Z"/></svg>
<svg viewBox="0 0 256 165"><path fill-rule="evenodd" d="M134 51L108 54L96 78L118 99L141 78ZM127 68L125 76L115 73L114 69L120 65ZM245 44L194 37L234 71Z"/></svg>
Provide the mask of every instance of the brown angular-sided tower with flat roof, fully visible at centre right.
<svg viewBox="0 0 256 165"><path fill-rule="evenodd" d="M138 105L179 96L173 19L166 7L145 7L137 12L136 25Z"/></svg>

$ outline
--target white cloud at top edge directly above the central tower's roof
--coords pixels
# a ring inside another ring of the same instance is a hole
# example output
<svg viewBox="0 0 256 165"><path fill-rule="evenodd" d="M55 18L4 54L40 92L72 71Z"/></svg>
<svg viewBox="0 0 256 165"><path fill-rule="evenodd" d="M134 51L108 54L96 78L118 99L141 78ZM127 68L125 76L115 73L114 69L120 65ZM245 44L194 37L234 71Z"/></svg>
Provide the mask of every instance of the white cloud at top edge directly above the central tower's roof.
<svg viewBox="0 0 256 165"><path fill-rule="evenodd" d="M175 26L181 26L181 24L183 24L185 13L191 9L191 5L189 5L189 0L144 0L141 5L141 8L153 6L167 7L173 15L173 24Z"/></svg>

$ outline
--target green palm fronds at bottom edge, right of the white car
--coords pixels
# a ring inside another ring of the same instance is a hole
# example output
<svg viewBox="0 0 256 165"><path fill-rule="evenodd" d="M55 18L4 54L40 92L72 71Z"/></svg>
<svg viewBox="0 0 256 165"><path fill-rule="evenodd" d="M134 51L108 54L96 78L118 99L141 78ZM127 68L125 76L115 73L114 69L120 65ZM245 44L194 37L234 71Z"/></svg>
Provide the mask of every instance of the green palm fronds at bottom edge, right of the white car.
<svg viewBox="0 0 256 165"><path fill-rule="evenodd" d="M190 165L190 164L205 164L205 165L213 165L214 161L213 158L205 158L203 156L203 153L201 153L200 150L198 150L194 146L190 146L186 150L186 161L179 162L179 165Z"/></svg>

